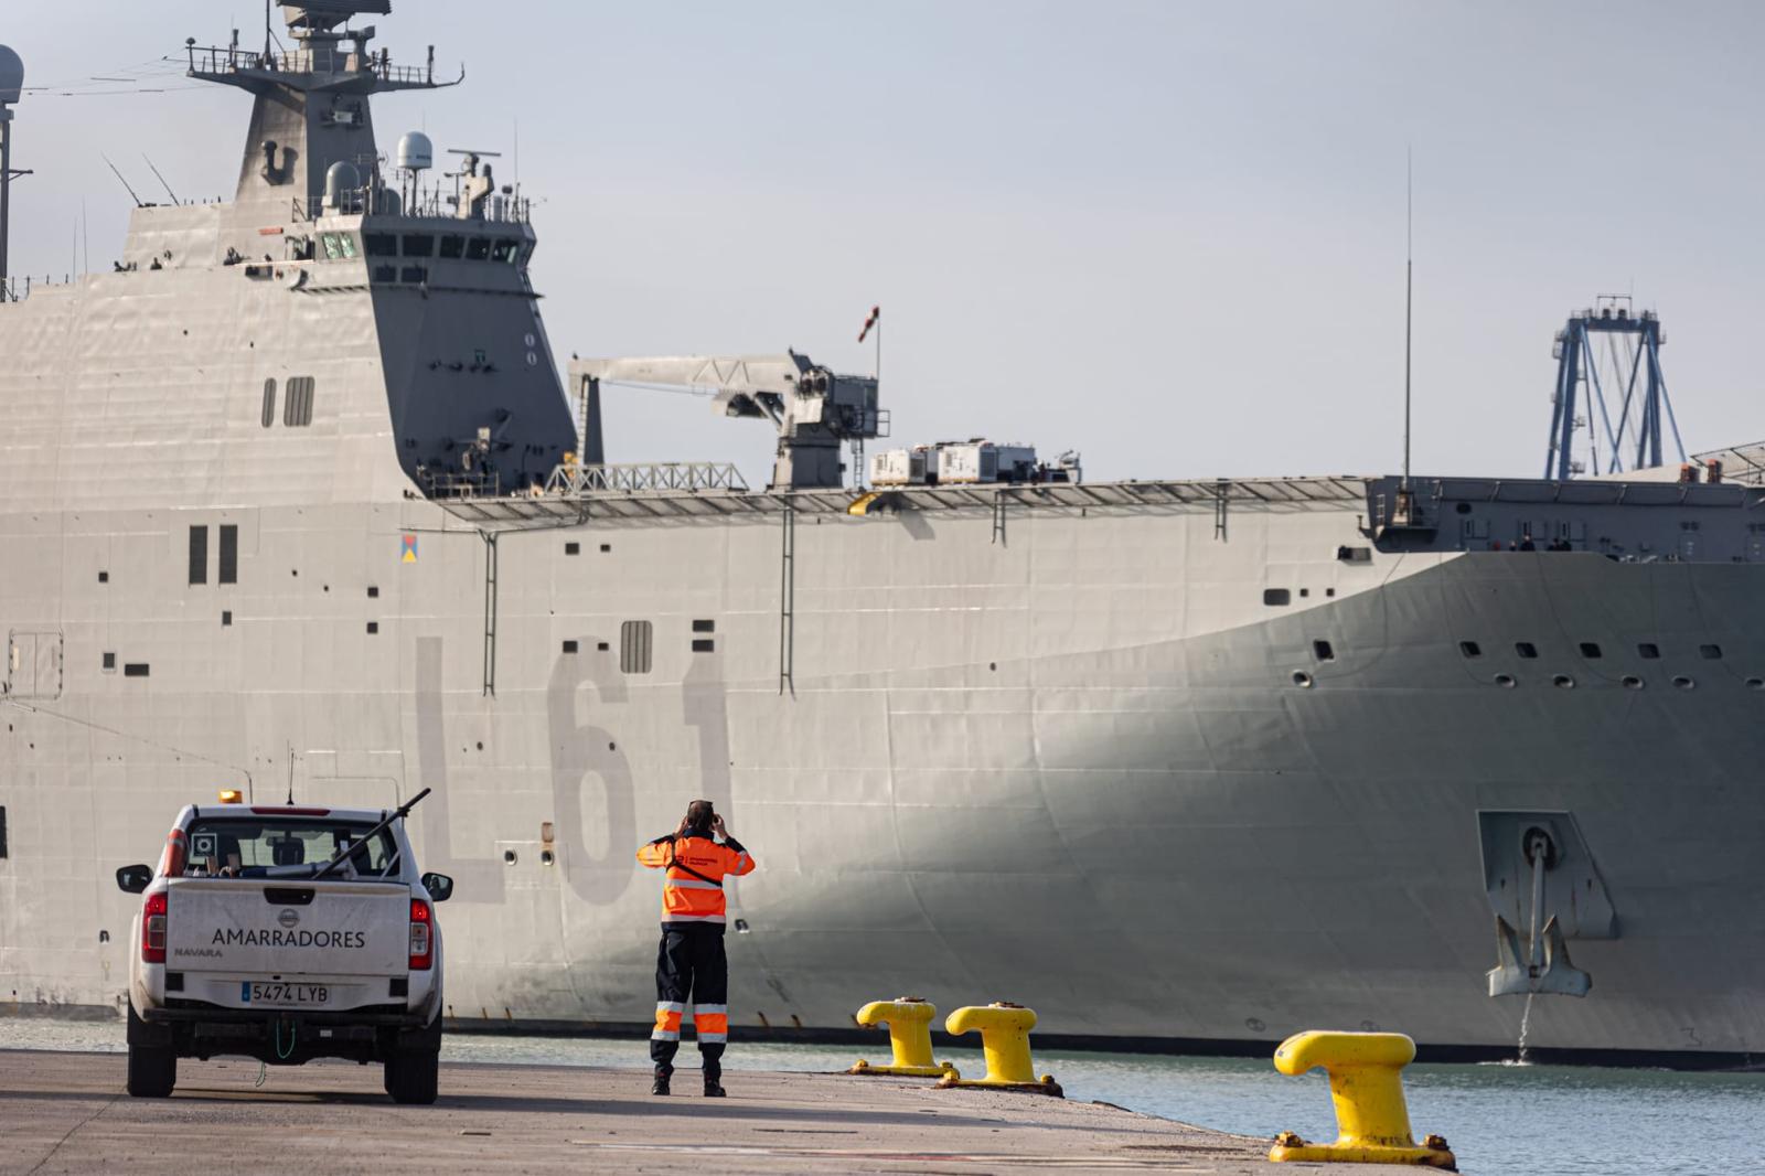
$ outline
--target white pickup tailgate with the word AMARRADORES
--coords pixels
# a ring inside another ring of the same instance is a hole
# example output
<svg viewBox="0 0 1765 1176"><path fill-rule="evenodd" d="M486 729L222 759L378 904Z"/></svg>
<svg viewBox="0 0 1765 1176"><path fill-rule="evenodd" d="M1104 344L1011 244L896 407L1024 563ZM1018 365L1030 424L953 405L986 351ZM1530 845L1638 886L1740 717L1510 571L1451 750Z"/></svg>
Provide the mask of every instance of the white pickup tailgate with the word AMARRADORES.
<svg viewBox="0 0 1765 1176"><path fill-rule="evenodd" d="M166 966L231 975L402 976L411 892L397 883L176 878Z"/></svg>

